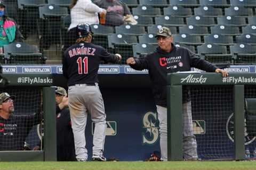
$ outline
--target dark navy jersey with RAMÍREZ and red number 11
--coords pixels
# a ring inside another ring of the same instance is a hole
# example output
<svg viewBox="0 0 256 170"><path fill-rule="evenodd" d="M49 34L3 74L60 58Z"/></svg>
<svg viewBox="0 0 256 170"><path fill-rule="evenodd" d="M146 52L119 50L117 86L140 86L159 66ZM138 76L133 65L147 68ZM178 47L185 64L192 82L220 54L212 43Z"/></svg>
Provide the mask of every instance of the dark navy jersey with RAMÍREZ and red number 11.
<svg viewBox="0 0 256 170"><path fill-rule="evenodd" d="M118 56L92 43L77 43L65 50L62 71L68 86L98 82L100 62L116 63Z"/></svg>

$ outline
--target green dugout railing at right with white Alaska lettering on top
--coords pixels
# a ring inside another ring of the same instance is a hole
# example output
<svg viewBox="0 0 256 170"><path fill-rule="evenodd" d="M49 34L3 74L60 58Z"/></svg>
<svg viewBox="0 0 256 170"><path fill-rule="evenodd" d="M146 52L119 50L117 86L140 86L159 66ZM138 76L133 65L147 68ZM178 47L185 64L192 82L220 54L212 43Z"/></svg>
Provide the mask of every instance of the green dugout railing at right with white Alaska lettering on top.
<svg viewBox="0 0 256 170"><path fill-rule="evenodd" d="M206 97L200 100L200 103L207 104L205 106L209 110L211 108L214 108L214 115L217 115L218 112L221 110L218 107L227 106L226 110L230 110L230 112L234 113L234 143L233 147L231 147L231 150L233 150L233 154L230 154L226 156L226 158L230 158L231 160L244 160L245 159L245 137L244 135L246 133L246 123L245 123L245 107L244 102L245 98L255 98L255 95L252 93L254 90L254 86L256 84L256 74L255 73L229 73L228 77L221 77L220 73L195 73L195 72L180 72L180 73L171 73L167 75L167 140L168 140L168 160L183 160L183 117L182 117L182 88L185 89L186 87L190 87L191 91L193 88L194 92L191 92L191 98L192 98L192 107L200 107L199 105L196 105L198 103L197 98L202 97L206 94L205 88L212 87L213 89L210 89L210 92L208 92ZM214 88L220 87L219 91L214 91ZM229 89L227 95L225 94L225 91L221 91L221 89ZM249 90L248 90L249 89ZM245 92L246 91L246 92ZM214 96L214 93L218 92L218 95ZM245 94L246 93L246 94ZM212 94L212 95L211 95ZM215 97L215 100L213 100L213 97ZM193 99L193 98L196 98ZM209 99L208 99L209 98ZM228 99L226 99L228 98ZM204 103L208 100L207 103ZM220 100L220 101L218 101ZM222 100L222 101L221 101ZM213 102L214 101L214 102ZM230 104L225 104L230 101ZM213 106L211 106L213 105ZM195 108L192 108L192 113L195 110ZM224 113L224 112L220 112ZM204 114L202 112L202 114ZM193 115L194 116L194 115ZM212 116L212 115L210 115ZM213 118L212 118L213 119ZM218 120L219 123L213 123L212 129L215 130L218 128L218 125L220 127L221 123L223 124L223 121L221 122L220 119ZM210 127L211 128L211 127ZM210 131L210 130L209 130ZM219 133L221 130L219 130ZM206 129L207 133L207 129ZM218 132L214 133L216 137L209 138L209 139L223 139L222 143L223 145L232 145L232 142L226 142L225 140L228 137L222 137L218 138L217 135L219 135ZM213 135L213 136L214 136ZM225 136L225 135L224 135ZM207 146L212 145L212 143L217 142L218 146L220 147L219 150L215 149L215 152L224 152L225 149L221 149L222 143L218 141L204 141L207 143ZM203 143L203 142L201 142ZM201 145L200 143L197 143L198 147ZM205 150L209 150L209 148L206 148ZM230 148L229 148L230 149ZM225 157L225 156L224 156ZM229 160L230 160L229 159ZM221 160L221 159L220 159ZM227 159L223 159L227 160Z"/></svg>

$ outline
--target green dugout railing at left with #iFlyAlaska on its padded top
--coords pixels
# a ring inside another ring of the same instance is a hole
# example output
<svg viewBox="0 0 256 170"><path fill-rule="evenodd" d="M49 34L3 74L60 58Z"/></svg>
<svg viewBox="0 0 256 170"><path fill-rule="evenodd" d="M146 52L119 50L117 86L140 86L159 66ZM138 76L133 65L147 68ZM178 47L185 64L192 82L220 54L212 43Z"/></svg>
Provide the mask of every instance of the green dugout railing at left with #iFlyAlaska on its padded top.
<svg viewBox="0 0 256 170"><path fill-rule="evenodd" d="M38 88L42 90L43 100L43 149L39 151L0 151L0 162L9 161L56 161L56 122L55 122L55 88L52 88L53 78L51 74L2 74L1 92L6 89ZM19 96L24 97L24 96ZM15 100L14 100L15 107Z"/></svg>

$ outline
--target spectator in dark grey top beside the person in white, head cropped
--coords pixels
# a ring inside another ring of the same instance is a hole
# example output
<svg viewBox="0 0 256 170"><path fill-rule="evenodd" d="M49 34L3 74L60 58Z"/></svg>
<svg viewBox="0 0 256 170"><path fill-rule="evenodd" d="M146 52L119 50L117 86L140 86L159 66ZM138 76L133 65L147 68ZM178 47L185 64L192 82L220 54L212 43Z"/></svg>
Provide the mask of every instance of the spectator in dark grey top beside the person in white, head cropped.
<svg viewBox="0 0 256 170"><path fill-rule="evenodd" d="M124 23L137 24L128 6L119 0L96 0L93 2L99 7L107 10L105 25L119 26ZM125 22L126 21L126 22Z"/></svg>

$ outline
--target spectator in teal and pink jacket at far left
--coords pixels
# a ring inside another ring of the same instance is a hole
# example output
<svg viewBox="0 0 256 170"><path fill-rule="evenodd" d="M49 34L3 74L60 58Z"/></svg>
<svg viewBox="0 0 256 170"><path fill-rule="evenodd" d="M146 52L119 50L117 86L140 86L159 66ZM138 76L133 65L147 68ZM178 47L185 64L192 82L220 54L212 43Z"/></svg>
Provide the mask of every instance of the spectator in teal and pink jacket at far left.
<svg viewBox="0 0 256 170"><path fill-rule="evenodd" d="M0 1L0 47L12 43L13 41L23 41L23 36L19 31L17 23L5 15L5 4Z"/></svg>

